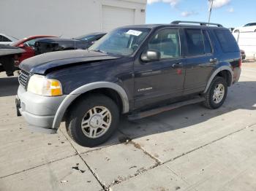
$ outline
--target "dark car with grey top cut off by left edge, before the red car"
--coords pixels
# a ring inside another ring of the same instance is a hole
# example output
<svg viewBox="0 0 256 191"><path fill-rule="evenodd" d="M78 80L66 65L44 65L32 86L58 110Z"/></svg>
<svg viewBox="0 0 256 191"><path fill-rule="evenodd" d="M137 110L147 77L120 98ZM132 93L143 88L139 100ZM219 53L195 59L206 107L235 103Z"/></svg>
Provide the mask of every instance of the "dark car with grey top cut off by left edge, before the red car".
<svg viewBox="0 0 256 191"><path fill-rule="evenodd" d="M7 77L13 76L15 67L15 58L18 58L24 50L18 47L12 47L6 44L0 44L0 72L5 71Z"/></svg>

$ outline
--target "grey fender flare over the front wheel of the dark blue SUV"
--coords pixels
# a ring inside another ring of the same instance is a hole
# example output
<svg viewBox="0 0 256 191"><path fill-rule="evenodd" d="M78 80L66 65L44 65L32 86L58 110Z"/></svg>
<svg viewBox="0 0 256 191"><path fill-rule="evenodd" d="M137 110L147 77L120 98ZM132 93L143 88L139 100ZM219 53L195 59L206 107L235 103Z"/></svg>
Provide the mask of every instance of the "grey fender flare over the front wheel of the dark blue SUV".
<svg viewBox="0 0 256 191"><path fill-rule="evenodd" d="M67 112L69 106L71 106L81 96L85 95L86 93L103 93L105 95L110 95L111 92L118 95L118 99L121 101L121 112L123 114L129 112L129 99L127 93L120 85L113 82L92 82L78 87L78 89L73 90L72 93L69 93L69 95L64 98L64 101L61 102L61 105L55 114L53 128L59 128L59 125L61 124L64 114ZM109 97L111 98L111 95Z"/></svg>

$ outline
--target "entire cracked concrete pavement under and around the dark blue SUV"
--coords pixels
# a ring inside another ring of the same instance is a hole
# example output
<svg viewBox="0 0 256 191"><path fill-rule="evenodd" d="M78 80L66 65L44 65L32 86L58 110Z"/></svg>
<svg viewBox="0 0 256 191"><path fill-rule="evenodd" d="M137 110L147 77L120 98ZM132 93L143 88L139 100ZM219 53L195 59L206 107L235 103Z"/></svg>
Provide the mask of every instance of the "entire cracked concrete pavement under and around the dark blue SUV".
<svg viewBox="0 0 256 191"><path fill-rule="evenodd" d="M0 74L0 190L256 190L256 67L244 63L222 108L195 104L133 122L105 144L31 133Z"/></svg>

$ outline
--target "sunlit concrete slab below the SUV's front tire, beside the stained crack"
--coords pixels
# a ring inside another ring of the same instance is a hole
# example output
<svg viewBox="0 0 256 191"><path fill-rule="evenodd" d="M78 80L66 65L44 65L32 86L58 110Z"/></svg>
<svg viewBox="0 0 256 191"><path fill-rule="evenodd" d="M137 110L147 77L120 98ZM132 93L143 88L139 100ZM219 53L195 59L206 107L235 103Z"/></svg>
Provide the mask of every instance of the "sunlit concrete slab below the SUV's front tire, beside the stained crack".
<svg viewBox="0 0 256 191"><path fill-rule="evenodd" d="M117 144L81 156L94 174L98 174L99 181L105 187L122 182L157 164L155 160L132 144Z"/></svg>

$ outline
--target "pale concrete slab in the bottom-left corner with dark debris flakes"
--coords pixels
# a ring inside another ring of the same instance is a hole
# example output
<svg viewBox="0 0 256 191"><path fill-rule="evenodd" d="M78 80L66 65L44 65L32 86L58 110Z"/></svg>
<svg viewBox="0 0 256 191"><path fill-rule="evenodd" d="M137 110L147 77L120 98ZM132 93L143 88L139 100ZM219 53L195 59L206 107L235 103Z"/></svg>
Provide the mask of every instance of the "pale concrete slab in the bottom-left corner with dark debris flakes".
<svg viewBox="0 0 256 191"><path fill-rule="evenodd" d="M83 171L75 170L79 166ZM15 184L14 184L15 183ZM41 165L0 179L0 190L101 190L102 187L78 156Z"/></svg>

